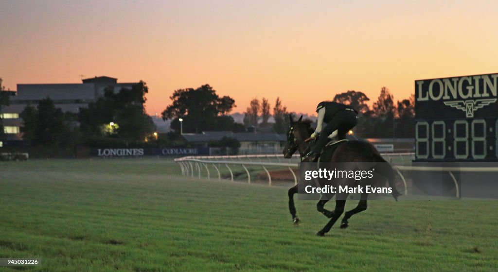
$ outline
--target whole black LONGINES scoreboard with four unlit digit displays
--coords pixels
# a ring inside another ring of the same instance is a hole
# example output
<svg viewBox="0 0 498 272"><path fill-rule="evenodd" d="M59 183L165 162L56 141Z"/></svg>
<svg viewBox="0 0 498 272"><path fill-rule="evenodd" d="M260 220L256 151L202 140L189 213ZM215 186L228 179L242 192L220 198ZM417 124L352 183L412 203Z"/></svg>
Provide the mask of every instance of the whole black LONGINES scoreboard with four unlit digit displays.
<svg viewBox="0 0 498 272"><path fill-rule="evenodd" d="M415 81L414 162L498 162L497 79Z"/></svg>

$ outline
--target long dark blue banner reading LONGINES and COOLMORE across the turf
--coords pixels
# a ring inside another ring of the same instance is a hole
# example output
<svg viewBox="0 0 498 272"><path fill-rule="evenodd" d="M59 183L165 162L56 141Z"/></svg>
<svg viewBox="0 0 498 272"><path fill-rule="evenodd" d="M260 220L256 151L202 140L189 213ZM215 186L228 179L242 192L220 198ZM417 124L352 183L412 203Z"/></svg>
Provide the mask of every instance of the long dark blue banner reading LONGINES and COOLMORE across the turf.
<svg viewBox="0 0 498 272"><path fill-rule="evenodd" d="M209 148L97 148L92 150L92 155L98 157L196 156L209 155Z"/></svg>

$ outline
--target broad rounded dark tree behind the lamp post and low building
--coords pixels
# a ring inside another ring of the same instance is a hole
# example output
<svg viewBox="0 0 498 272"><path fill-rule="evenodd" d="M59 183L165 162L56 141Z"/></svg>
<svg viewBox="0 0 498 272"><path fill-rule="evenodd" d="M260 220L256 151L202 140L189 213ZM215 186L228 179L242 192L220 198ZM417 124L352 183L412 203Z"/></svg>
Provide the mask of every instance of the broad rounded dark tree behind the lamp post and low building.
<svg viewBox="0 0 498 272"><path fill-rule="evenodd" d="M235 105L230 96L219 97L209 85L197 89L179 89L169 97L173 102L161 113L162 118L172 119L171 128L179 131L179 118L183 119L184 133L199 133L202 131L220 130L233 122L233 118L225 117Z"/></svg>

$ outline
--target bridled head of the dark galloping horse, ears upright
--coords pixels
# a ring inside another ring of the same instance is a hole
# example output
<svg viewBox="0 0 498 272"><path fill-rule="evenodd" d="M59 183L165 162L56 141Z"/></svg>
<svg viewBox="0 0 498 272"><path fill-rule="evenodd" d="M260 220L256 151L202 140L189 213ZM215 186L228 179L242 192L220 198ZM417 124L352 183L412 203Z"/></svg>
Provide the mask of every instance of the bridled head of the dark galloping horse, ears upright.
<svg viewBox="0 0 498 272"><path fill-rule="evenodd" d="M309 136L309 122L302 121L303 116L294 121L292 114L289 114L289 130L287 131L287 143L283 148L283 156L285 159L290 159L292 155L299 149L304 151L304 140Z"/></svg>

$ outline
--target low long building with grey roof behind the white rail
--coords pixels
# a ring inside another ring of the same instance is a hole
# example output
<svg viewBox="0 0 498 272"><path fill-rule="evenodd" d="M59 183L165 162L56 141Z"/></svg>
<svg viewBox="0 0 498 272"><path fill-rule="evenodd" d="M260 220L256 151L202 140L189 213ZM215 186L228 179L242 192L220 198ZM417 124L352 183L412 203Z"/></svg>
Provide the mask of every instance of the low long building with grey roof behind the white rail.
<svg viewBox="0 0 498 272"><path fill-rule="evenodd" d="M241 143L239 154L280 154L287 142L285 134L276 133L206 131L182 136L186 142L196 147L208 147L210 142L219 141L223 137L235 138Z"/></svg>

